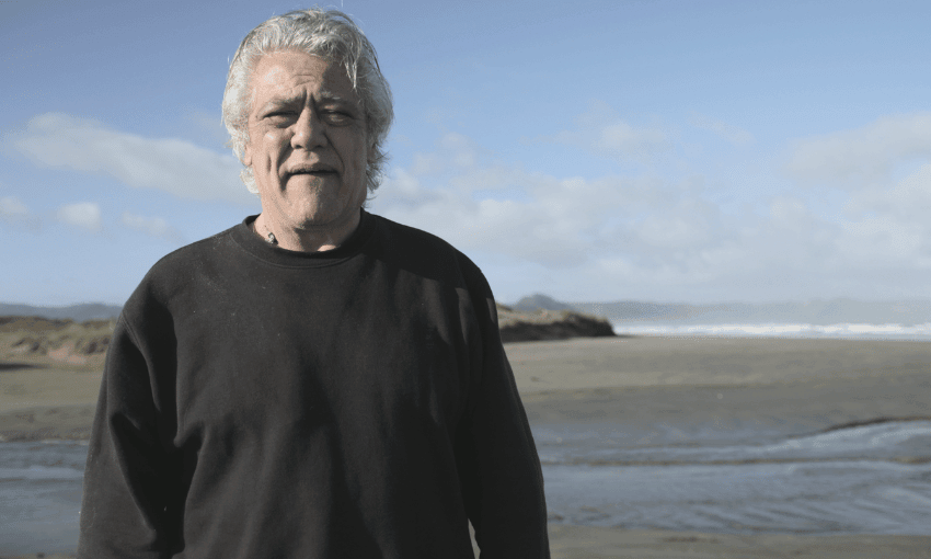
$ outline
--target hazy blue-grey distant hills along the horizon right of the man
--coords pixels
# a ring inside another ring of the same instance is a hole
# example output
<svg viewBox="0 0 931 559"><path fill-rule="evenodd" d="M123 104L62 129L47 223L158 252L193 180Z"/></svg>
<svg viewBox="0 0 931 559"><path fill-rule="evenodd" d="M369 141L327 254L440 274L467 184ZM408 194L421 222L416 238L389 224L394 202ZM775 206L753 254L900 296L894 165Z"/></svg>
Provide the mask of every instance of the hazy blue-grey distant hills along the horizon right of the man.
<svg viewBox="0 0 931 559"><path fill-rule="evenodd" d="M931 300L906 299L894 301L862 301L849 298L815 299L785 303L720 303L689 305L685 303L645 303L621 300L613 303L562 303L547 295L520 299L535 310L576 310L604 317L614 323L670 322L670 323L807 323L807 324L901 324L916 326L931 322Z"/></svg>

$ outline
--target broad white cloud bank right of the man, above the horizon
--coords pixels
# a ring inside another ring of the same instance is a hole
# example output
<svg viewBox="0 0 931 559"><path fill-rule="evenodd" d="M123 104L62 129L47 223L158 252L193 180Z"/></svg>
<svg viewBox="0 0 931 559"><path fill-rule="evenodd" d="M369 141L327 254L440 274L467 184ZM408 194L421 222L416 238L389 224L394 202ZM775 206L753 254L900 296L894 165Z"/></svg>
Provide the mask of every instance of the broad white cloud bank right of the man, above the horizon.
<svg viewBox="0 0 931 559"><path fill-rule="evenodd" d="M931 166L872 193L882 197L869 203L885 208L875 216L844 215L843 199L825 206L765 191L725 212L701 176L531 173L491 162L465 138L422 156L430 164L394 169L372 210L494 262L490 280L510 289L503 300L535 290L667 300L931 296L911 280L931 266L931 225L921 221Z"/></svg>

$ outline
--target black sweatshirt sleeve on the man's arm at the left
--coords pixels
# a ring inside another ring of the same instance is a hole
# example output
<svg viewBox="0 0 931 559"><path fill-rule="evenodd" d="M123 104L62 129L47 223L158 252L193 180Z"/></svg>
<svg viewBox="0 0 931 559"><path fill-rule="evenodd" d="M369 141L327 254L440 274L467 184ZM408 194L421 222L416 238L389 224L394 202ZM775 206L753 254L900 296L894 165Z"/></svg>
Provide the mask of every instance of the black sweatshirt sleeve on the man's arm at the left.
<svg viewBox="0 0 931 559"><path fill-rule="evenodd" d="M124 311L125 312L125 311ZM88 449L78 557L169 556L170 454L159 435L152 361L120 316Z"/></svg>

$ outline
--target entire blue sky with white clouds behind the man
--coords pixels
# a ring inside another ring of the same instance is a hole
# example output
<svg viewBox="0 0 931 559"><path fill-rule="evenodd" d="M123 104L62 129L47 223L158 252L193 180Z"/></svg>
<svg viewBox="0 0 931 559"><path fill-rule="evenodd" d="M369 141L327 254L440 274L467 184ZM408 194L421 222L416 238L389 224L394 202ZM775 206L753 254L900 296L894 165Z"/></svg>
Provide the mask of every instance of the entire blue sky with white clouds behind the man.
<svg viewBox="0 0 931 559"><path fill-rule="evenodd" d="M0 301L120 305L261 212L229 60L290 1L0 1ZM368 208L496 298L931 297L931 2L384 1Z"/></svg>

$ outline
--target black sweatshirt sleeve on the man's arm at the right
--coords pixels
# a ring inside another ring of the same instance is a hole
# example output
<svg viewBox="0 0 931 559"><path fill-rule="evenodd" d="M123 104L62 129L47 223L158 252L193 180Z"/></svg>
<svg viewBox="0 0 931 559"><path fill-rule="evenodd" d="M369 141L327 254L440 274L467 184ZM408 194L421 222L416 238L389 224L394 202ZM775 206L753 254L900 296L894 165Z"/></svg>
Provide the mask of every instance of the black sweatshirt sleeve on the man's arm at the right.
<svg viewBox="0 0 931 559"><path fill-rule="evenodd" d="M548 559L540 459L501 342L494 297L481 280L482 298L475 300L481 377L473 384L459 434L465 509L481 559Z"/></svg>

